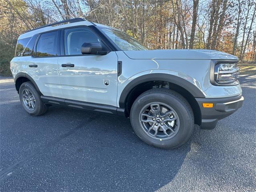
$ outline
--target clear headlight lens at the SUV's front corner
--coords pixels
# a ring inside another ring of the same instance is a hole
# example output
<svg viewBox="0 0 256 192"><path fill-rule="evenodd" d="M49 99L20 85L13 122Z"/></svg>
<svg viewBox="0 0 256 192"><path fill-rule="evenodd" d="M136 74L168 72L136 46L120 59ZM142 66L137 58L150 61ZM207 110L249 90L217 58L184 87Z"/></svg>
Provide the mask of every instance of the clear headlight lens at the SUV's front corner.
<svg viewBox="0 0 256 192"><path fill-rule="evenodd" d="M218 84L233 83L239 74L236 63L220 63L214 67L214 79Z"/></svg>

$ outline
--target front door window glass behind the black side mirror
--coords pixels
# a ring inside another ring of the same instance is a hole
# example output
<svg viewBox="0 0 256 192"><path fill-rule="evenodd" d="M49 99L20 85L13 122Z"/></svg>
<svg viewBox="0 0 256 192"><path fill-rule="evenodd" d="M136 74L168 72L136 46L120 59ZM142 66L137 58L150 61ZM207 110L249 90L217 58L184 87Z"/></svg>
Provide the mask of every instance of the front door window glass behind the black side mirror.
<svg viewBox="0 0 256 192"><path fill-rule="evenodd" d="M98 36L87 28L78 27L64 30L65 55L82 55L81 46L85 42L101 43Z"/></svg>

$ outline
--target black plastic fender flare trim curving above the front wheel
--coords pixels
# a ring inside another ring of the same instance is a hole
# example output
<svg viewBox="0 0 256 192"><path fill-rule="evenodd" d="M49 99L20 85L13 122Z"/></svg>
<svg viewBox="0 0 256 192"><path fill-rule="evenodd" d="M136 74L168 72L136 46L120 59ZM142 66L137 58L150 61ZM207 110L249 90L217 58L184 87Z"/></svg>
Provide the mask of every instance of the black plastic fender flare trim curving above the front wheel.
<svg viewBox="0 0 256 192"><path fill-rule="evenodd" d="M135 88L137 85L141 83L148 82L148 81L170 82L186 89L195 98L205 98L204 94L198 87L196 87L194 84L192 84L188 80L185 80L184 78L181 78L172 74L153 73L153 74L142 75L140 77L135 78L130 83L128 83L128 85L124 88L124 90L120 95L120 99L119 99L120 108L125 108L126 98L133 88Z"/></svg>

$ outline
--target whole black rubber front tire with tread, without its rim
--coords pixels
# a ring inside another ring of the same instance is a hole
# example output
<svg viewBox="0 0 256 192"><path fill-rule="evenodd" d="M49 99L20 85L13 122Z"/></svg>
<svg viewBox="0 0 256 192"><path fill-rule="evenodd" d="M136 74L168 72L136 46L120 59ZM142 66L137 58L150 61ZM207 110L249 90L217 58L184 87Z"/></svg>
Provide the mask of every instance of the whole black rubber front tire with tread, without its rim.
<svg viewBox="0 0 256 192"><path fill-rule="evenodd" d="M144 106L153 102L170 106L178 115L179 129L174 137L167 138L167 140L155 139L143 130L140 123L140 112ZM188 101L177 92L165 88L154 88L138 96L132 105L130 120L137 136L147 144L158 148L177 148L185 144L194 129L194 114Z"/></svg>

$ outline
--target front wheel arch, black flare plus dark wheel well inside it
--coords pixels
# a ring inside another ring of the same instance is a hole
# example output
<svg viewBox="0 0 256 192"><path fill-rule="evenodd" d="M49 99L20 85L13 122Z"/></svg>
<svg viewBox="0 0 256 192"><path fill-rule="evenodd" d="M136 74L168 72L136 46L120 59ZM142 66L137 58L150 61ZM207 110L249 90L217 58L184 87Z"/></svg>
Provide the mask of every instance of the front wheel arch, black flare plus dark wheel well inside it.
<svg viewBox="0 0 256 192"><path fill-rule="evenodd" d="M195 98L205 98L204 94L188 80L171 74L146 74L129 82L119 99L119 107L124 108L125 116L130 115L134 100L146 90L151 89L154 82L168 82L170 89L180 93L189 102L194 112L195 124L201 125L201 110Z"/></svg>

